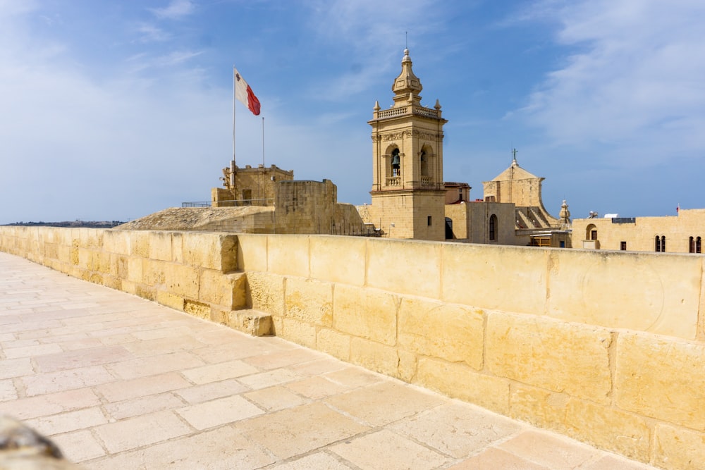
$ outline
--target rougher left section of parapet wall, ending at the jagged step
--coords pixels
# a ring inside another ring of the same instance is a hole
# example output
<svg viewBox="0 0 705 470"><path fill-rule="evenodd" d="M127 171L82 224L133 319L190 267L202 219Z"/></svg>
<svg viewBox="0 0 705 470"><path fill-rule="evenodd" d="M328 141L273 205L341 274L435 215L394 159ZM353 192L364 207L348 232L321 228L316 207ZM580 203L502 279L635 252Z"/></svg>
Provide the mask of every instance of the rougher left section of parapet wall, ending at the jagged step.
<svg viewBox="0 0 705 470"><path fill-rule="evenodd" d="M246 307L235 235L0 227L0 251L219 323Z"/></svg>

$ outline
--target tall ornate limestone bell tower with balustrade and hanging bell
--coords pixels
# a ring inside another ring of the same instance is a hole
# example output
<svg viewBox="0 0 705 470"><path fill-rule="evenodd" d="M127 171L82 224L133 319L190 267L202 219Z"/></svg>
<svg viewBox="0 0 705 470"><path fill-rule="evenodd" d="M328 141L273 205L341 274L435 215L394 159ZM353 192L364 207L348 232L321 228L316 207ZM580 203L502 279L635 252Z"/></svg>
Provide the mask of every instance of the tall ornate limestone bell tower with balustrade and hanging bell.
<svg viewBox="0 0 705 470"><path fill-rule="evenodd" d="M394 80L394 104L379 102L372 126L372 223L391 238L445 239L441 105L421 104L409 50Z"/></svg>

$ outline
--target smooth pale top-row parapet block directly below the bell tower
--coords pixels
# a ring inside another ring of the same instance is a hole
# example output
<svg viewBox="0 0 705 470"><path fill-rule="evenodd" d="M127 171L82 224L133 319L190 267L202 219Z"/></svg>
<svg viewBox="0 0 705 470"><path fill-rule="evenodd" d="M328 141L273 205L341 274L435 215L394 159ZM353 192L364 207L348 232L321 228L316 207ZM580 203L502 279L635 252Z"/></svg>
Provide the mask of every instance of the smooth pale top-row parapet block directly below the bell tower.
<svg viewBox="0 0 705 470"><path fill-rule="evenodd" d="M399 294L439 298L441 245L410 240L368 240L367 285Z"/></svg>

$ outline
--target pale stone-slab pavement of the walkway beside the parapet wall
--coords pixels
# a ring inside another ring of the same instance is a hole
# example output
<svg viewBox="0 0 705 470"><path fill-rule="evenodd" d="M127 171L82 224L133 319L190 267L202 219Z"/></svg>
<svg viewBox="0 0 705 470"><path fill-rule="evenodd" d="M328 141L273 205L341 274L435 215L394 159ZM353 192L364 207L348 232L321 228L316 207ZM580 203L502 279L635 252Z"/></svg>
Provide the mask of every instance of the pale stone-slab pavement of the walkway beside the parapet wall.
<svg viewBox="0 0 705 470"><path fill-rule="evenodd" d="M86 469L654 468L5 253L0 412Z"/></svg>

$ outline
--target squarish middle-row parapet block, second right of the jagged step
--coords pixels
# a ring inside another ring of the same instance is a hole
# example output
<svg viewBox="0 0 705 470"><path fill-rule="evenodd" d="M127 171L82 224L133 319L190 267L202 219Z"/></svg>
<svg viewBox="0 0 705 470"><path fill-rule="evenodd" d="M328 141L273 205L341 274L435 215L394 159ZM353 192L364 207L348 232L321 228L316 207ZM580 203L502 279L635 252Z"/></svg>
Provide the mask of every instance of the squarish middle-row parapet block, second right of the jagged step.
<svg viewBox="0 0 705 470"><path fill-rule="evenodd" d="M306 278L287 278L285 315L310 325L332 326L333 284Z"/></svg>

